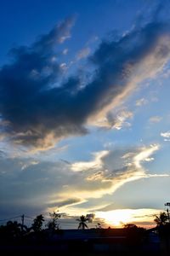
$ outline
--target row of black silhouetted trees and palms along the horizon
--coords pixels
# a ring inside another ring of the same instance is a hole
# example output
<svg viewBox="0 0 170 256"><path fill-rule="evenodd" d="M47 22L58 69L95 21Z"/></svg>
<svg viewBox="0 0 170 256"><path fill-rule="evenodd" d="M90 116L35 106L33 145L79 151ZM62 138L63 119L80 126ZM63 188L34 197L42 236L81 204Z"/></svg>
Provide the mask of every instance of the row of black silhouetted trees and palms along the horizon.
<svg viewBox="0 0 170 256"><path fill-rule="evenodd" d="M8 221L6 224L0 226L0 244L34 241L41 243L44 241L53 241L54 236L62 236L65 230L62 230L59 226L59 218L61 218L60 213L49 213L49 217L48 223L44 224L45 219L43 215L37 215L37 217L33 219L30 227L27 227L24 222L20 224L17 221ZM80 218L76 219L76 221L78 221L77 229L88 229L90 219L87 216L82 215ZM169 236L170 222L167 212L160 212L159 216L155 216L154 221L156 227L152 230L160 236ZM102 230L101 224L97 224L95 229ZM108 230L109 229L110 227ZM123 229L132 241L143 237L145 231L147 231L135 224L125 224Z"/></svg>

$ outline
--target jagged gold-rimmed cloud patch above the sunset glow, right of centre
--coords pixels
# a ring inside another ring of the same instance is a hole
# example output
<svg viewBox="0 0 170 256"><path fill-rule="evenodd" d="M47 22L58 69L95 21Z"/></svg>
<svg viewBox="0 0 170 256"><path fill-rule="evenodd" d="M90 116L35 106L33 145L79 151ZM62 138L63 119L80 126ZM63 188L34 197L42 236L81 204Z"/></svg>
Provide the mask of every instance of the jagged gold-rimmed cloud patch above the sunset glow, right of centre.
<svg viewBox="0 0 170 256"><path fill-rule="evenodd" d="M124 183L144 177L161 177L159 174L150 176L143 166L144 162L154 160L150 155L158 149L158 145L133 148L130 152L116 148L116 151L108 150L105 154L103 151L101 154L96 154L92 161L73 163L71 170L78 171L84 180L83 183L77 183L77 189L80 189L79 195L86 199L99 198L113 193ZM74 191L75 186L70 189Z"/></svg>

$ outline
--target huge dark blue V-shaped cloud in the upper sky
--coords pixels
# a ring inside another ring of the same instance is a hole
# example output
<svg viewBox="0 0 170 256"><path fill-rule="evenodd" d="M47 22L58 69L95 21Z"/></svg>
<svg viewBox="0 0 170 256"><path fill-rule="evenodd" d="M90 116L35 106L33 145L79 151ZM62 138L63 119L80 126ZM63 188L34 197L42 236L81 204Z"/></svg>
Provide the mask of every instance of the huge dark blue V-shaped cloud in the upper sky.
<svg viewBox="0 0 170 256"><path fill-rule="evenodd" d="M31 47L12 49L14 61L0 70L1 124L6 124L0 129L14 143L45 149L63 137L85 134L88 118L127 90L135 67L170 32L165 23L152 21L116 41L102 42L90 57L96 67L90 83L80 89L77 75L56 86L62 74L54 59L56 46L70 37L73 22L64 20ZM166 58L168 52L161 45L157 59Z"/></svg>

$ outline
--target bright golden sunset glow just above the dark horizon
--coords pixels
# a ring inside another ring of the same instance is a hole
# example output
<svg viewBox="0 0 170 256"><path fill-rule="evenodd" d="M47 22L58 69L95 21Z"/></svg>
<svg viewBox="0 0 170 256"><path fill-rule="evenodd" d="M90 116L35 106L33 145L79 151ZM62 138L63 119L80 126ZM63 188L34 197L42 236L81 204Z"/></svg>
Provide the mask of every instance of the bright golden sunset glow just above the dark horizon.
<svg viewBox="0 0 170 256"><path fill-rule="evenodd" d="M147 225L154 225L154 216L159 214L161 210L157 209L118 209L108 212L96 212L96 218L102 218L106 224L111 225L111 227L122 227L124 224L133 223L144 226L143 223L148 223Z"/></svg>

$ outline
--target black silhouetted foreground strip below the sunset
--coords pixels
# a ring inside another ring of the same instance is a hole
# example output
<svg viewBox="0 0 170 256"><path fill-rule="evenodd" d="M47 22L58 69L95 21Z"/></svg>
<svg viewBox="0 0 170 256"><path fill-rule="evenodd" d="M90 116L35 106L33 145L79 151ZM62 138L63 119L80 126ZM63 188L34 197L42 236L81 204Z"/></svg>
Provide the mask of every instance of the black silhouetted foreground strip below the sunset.
<svg viewBox="0 0 170 256"><path fill-rule="evenodd" d="M41 219L39 219L41 221ZM43 255L170 255L170 224L144 230L135 225L123 229L30 229L17 222L0 227L0 252Z"/></svg>

